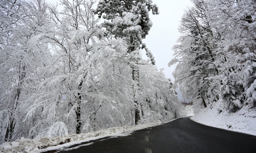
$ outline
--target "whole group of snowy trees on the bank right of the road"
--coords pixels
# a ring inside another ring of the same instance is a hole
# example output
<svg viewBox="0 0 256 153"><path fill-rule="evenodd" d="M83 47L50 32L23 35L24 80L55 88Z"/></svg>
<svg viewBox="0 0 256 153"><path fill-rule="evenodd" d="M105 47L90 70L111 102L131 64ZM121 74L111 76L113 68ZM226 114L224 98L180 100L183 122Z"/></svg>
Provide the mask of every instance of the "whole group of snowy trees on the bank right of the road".
<svg viewBox="0 0 256 153"><path fill-rule="evenodd" d="M173 75L183 94L204 107L255 107L255 1L193 0L173 47ZM185 75L184 75L185 74Z"/></svg>

